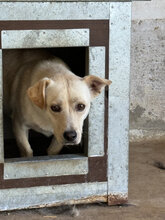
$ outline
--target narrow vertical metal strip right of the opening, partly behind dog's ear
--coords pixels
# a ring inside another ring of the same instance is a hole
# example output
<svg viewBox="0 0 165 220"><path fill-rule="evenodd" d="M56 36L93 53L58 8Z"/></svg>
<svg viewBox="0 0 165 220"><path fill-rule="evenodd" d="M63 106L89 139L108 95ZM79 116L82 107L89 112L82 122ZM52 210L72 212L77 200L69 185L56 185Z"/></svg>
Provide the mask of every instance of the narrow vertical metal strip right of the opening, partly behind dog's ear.
<svg viewBox="0 0 165 220"><path fill-rule="evenodd" d="M89 74L105 78L105 47L89 47ZM88 125L88 156L103 156L104 92L91 104Z"/></svg>

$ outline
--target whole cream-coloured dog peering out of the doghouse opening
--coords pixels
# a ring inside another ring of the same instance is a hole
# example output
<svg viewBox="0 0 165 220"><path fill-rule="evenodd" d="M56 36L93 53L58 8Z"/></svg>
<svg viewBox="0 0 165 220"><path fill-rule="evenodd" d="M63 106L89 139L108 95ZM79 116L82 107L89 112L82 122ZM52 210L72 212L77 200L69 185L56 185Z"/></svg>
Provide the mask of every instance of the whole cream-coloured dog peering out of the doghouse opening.
<svg viewBox="0 0 165 220"><path fill-rule="evenodd" d="M91 100L111 81L80 78L46 50L7 50L3 60L4 109L12 117L21 156L33 156L29 129L54 134L49 155L63 145L79 144Z"/></svg>

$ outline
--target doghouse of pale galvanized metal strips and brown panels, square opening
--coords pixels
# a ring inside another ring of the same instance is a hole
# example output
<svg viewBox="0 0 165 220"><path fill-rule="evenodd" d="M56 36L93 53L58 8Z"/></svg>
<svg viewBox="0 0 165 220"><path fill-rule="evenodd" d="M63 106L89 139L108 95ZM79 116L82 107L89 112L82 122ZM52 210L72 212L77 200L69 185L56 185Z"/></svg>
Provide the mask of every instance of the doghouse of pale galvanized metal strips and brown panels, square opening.
<svg viewBox="0 0 165 220"><path fill-rule="evenodd" d="M130 28L131 0L0 1L0 210L127 202ZM5 157L3 51L22 48L68 51L80 75L112 80L92 103L83 151Z"/></svg>

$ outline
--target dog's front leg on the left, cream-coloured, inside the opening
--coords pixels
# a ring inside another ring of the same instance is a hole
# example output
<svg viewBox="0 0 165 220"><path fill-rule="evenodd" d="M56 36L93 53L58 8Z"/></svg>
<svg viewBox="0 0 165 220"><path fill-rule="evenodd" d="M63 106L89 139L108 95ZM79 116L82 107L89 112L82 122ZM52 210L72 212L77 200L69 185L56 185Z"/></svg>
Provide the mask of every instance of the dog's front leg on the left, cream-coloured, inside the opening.
<svg viewBox="0 0 165 220"><path fill-rule="evenodd" d="M21 157L32 157L33 150L28 141L28 129L18 121L13 120L13 131L16 137Z"/></svg>

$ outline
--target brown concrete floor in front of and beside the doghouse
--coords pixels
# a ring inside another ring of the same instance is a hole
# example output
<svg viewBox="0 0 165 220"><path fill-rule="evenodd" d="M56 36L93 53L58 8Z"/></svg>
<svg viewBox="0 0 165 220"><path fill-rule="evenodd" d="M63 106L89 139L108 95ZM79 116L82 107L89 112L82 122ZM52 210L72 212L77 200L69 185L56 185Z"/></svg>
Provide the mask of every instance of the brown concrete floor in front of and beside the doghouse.
<svg viewBox="0 0 165 220"><path fill-rule="evenodd" d="M0 213L0 220L165 220L165 141L130 146L129 202Z"/></svg>

